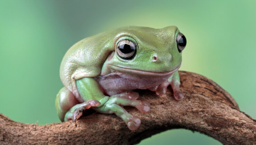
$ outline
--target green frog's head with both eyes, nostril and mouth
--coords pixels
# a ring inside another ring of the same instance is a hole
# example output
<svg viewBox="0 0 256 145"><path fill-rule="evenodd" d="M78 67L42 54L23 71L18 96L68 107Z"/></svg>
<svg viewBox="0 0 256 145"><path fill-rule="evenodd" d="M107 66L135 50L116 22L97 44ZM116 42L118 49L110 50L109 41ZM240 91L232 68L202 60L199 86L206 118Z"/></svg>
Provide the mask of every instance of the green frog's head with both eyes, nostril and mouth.
<svg viewBox="0 0 256 145"><path fill-rule="evenodd" d="M186 38L175 26L120 28L113 40L115 51L106 65L116 71L143 75L168 75L179 69Z"/></svg>

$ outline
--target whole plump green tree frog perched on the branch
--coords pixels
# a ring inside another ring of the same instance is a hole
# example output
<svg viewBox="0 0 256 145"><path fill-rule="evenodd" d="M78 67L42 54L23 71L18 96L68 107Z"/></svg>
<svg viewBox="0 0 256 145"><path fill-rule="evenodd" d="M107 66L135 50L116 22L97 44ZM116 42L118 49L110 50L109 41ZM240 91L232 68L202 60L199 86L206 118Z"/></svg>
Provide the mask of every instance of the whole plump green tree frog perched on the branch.
<svg viewBox="0 0 256 145"><path fill-rule="evenodd" d="M84 38L64 55L60 78L64 87L55 101L62 122L75 122L86 109L115 114L131 131L139 117L124 106L148 113L150 103L139 100L135 89L166 94L171 85L174 98L182 100L178 69L186 38L176 26L161 29L128 26Z"/></svg>

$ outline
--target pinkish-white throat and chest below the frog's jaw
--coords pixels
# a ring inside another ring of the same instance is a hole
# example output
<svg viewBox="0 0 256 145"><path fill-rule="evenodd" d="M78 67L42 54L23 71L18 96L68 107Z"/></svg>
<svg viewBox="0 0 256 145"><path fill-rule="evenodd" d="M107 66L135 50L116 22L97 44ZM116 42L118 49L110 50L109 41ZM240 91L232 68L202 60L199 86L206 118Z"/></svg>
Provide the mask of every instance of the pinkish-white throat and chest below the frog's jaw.
<svg viewBox="0 0 256 145"><path fill-rule="evenodd" d="M104 94L114 95L134 89L148 89L155 87L167 80L172 74L166 76L130 76L127 74L109 74L98 76L94 79L102 87Z"/></svg>

